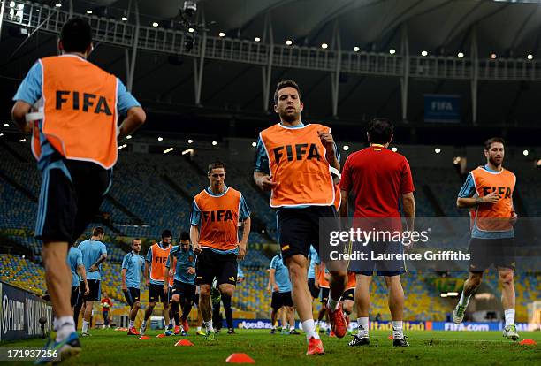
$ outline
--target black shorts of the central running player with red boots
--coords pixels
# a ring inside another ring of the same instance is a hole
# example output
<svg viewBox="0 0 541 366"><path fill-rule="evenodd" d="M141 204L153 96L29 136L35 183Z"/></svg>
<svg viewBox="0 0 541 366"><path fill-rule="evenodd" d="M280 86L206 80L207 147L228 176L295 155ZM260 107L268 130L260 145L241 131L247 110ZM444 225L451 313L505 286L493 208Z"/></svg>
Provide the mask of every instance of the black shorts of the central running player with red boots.
<svg viewBox="0 0 541 366"><path fill-rule="evenodd" d="M298 254L308 258L310 245L314 246L318 254L322 245L329 245L326 240L320 242L320 218L328 219L325 220L322 230L340 230L339 215L334 206L310 206L305 209L279 209L277 211L278 242L282 250L282 258ZM321 235L322 238L329 237L324 233Z"/></svg>

